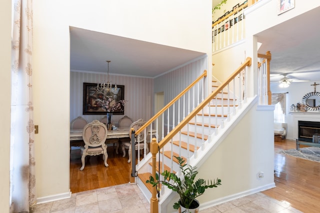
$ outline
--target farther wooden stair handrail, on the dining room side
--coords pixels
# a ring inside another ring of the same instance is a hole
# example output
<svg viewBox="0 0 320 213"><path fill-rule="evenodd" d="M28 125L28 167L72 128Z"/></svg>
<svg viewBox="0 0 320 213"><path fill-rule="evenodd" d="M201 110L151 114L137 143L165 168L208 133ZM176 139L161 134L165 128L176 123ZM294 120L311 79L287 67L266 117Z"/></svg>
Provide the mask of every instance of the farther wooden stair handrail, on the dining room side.
<svg viewBox="0 0 320 213"><path fill-rule="evenodd" d="M135 135L138 135L142 130L147 128L157 117L159 117L165 110L167 110L175 101L177 101L182 95L184 95L191 87L193 87L198 81L200 81L202 78L206 77L207 71L204 70L204 72L197 77L189 86L187 86L180 94L178 94L175 98L173 98L165 107L163 107L160 111L158 111L152 118L150 118L143 126L141 126L138 130L135 131Z"/></svg>

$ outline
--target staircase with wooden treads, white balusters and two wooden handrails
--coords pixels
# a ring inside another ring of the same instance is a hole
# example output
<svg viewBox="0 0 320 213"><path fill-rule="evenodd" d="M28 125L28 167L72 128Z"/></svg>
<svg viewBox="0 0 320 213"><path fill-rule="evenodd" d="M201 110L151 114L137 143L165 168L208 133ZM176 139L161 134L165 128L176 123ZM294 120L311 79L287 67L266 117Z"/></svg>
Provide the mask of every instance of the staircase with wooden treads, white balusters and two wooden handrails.
<svg viewBox="0 0 320 213"><path fill-rule="evenodd" d="M141 161L138 160L138 164L135 167L133 166L132 178L130 180L130 182L134 181L136 169L136 184L144 196L151 200L151 212L157 212L158 205L159 209L164 210L165 205L167 205L170 199L173 199L174 195L166 187L160 186L160 196L157 199L155 187L152 188L150 184L145 184L145 181L149 179L149 176L154 177L155 171L161 173L167 170L179 175L180 171L173 156L180 156L189 165L197 166L199 161L221 138L220 133L223 134L225 131L223 130L225 124L230 121L231 117L236 116L237 111L240 111L242 103L245 102L246 87L242 84L241 79L245 76L246 66L250 66L250 64L251 59L247 58L225 82L212 81L212 92L208 97L203 99L204 88L201 90L197 86L198 89L196 91L195 85L203 80L206 76L205 72L147 121L145 125L138 129L134 137L131 137L131 139L134 138L133 142L134 140L140 141L139 135L143 131L146 132L146 130L152 129L156 132L156 138L150 138L152 140L150 143L150 153L144 155L144 158ZM193 93L192 97L201 97L202 93L202 100L199 101L197 99L194 101L185 98L185 96L189 97L190 91ZM194 102L200 103L196 107L192 107L190 113L187 112L189 111L189 106L192 106ZM184 103L188 104L184 106ZM175 107L176 105L177 107ZM180 109L183 113L180 112ZM186 116L183 116L184 111L187 112ZM182 119L179 122L181 114ZM162 117L160 120L163 123L158 122L160 116ZM165 130L166 134L163 134ZM162 137L158 136L158 132L162 133ZM146 140L144 143L146 143Z"/></svg>

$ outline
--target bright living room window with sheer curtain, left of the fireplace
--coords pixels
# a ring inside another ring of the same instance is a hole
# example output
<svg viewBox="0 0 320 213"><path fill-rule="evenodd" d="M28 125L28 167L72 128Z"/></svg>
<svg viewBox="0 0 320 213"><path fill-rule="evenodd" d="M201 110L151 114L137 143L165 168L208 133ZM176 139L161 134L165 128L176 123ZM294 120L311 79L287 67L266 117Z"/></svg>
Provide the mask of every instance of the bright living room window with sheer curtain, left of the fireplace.
<svg viewBox="0 0 320 213"><path fill-rule="evenodd" d="M274 107L274 122L285 123L286 93L274 93L271 95L271 104Z"/></svg>

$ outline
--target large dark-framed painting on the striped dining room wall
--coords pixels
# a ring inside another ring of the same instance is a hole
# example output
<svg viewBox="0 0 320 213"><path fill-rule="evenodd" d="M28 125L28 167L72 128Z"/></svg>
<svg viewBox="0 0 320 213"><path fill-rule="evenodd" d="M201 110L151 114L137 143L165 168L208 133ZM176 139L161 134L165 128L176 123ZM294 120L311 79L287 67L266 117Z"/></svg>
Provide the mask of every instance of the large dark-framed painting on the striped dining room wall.
<svg viewBox="0 0 320 213"><path fill-rule="evenodd" d="M106 111L102 107L97 106L96 101L98 99L102 100L106 91L99 92L96 89L96 83L83 83L83 115L106 115ZM115 90L114 85L112 85L112 96L115 101L124 100L124 86L116 85ZM115 110L112 112L114 115L124 115L123 109ZM121 112L122 111L122 112Z"/></svg>

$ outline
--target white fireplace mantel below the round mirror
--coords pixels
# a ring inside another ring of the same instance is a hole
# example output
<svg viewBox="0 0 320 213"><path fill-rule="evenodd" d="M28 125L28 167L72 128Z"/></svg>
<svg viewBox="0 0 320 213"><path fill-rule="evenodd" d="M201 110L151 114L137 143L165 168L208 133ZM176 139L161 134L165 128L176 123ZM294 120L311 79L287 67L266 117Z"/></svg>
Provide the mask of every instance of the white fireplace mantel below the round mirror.
<svg viewBox="0 0 320 213"><path fill-rule="evenodd" d="M298 138L298 121L320 122L320 112L289 112L292 115L293 138Z"/></svg>

